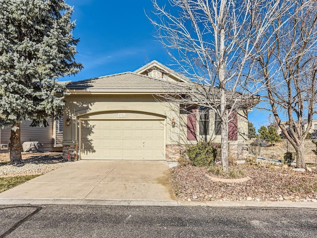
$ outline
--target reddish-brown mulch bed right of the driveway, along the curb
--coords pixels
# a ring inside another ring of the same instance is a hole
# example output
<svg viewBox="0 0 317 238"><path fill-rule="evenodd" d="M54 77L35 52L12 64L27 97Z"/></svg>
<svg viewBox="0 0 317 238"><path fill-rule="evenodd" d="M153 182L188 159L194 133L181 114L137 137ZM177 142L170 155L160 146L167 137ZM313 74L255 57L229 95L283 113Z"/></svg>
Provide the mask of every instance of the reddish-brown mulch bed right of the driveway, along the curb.
<svg viewBox="0 0 317 238"><path fill-rule="evenodd" d="M237 165L251 179L241 183L211 181L206 167L173 167L169 180L183 201L317 202L317 170L295 172L281 166Z"/></svg>

